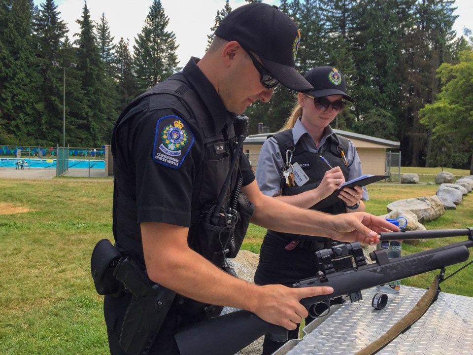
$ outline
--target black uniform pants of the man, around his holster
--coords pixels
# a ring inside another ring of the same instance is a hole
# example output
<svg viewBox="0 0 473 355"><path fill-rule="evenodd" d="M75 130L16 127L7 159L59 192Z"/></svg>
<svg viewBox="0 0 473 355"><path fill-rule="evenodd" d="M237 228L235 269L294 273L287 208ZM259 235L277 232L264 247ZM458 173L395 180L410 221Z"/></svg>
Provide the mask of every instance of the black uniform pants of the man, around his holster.
<svg viewBox="0 0 473 355"><path fill-rule="evenodd" d="M179 355L177 344L174 340L174 334L177 330L187 324L202 320L186 313L184 308L176 307L176 299L169 309L168 315L164 320L161 329L151 347L149 355ZM126 355L120 347L120 333L122 331L123 319L128 305L132 299L132 294L124 292L119 297L106 295L103 301L103 314L107 324L108 346L110 355Z"/></svg>

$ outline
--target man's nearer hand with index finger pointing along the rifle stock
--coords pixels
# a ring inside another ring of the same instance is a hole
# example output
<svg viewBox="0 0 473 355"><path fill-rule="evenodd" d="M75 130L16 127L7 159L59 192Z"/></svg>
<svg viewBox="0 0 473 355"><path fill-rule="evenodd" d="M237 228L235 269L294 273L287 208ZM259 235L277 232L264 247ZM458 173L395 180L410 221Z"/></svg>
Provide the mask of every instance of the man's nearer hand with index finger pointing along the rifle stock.
<svg viewBox="0 0 473 355"><path fill-rule="evenodd" d="M330 294L332 287L303 287L292 288L283 285L258 286L261 291L255 305L255 313L262 320L283 326L286 329L296 329L296 324L307 317L306 308L300 300L307 297Z"/></svg>

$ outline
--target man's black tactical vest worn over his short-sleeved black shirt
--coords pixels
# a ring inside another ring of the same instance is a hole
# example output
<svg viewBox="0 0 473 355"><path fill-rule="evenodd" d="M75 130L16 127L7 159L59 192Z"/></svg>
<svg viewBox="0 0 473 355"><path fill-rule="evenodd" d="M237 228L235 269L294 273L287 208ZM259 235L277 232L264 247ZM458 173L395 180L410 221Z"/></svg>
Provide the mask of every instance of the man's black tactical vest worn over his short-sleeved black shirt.
<svg viewBox="0 0 473 355"><path fill-rule="evenodd" d="M226 126L228 130L224 128L224 132L217 132L215 135L210 132L212 130L206 129L208 123L205 122L204 117L208 115L207 108L194 91L189 88L188 84L180 80L179 75L181 75L181 73L175 74L173 79L168 79L154 86L130 103L121 114L115 126L114 133L135 114L140 114L140 112L136 111L136 104L147 97L150 97L149 111L163 108L163 100L167 100L168 102L172 100L172 107L178 112L182 112L184 118L194 121L196 127L200 128L204 141L204 159L202 165L196 167L196 170L201 169L202 173L199 174L199 181L196 181L196 189L198 189L199 194L198 198L193 198L192 200L191 225L188 234L189 247L194 250L199 250L205 249L200 245L201 243L205 243L205 241L202 237L199 238L199 236L194 235L195 227L203 211L215 204L218 198L222 185L230 170L230 151L233 151L236 133L234 125L230 124ZM175 98L177 98L177 100L175 100ZM222 117L222 119L224 118ZM215 154L215 145L219 143L230 145L227 147L229 154ZM114 152L113 154L115 157ZM129 161L132 161L131 157L129 159ZM236 174L232 177L227 198L224 201L225 203L228 203L230 193L235 186L235 180ZM126 187L134 185L134 175L122 174L120 180L115 178L113 194L113 234L119 251L122 254L129 254L130 252L135 254L144 265L141 232L139 224L136 223L136 213L131 213L130 209L127 208L127 206L136 204L134 196L129 196L126 192L129 191Z"/></svg>

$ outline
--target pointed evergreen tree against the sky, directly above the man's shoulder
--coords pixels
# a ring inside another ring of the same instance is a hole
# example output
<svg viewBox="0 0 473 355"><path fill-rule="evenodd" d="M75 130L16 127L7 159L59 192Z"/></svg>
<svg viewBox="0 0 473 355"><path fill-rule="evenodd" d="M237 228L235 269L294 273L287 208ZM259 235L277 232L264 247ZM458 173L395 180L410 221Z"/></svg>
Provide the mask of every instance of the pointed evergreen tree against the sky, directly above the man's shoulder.
<svg viewBox="0 0 473 355"><path fill-rule="evenodd" d="M135 38L135 74L141 91L166 80L179 68L173 32L166 31L169 18L160 0L153 0L141 34Z"/></svg>

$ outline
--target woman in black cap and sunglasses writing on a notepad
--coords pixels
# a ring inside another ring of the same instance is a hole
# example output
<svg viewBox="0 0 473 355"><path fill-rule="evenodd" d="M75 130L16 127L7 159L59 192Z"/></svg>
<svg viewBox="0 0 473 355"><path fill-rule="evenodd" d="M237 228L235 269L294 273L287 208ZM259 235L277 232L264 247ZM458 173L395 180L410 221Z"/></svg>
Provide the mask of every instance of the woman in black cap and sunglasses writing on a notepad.
<svg viewBox="0 0 473 355"><path fill-rule="evenodd" d="M354 102L345 92L345 78L333 67L314 68L304 77L314 90L298 94L284 127L263 144L256 169L258 186L264 194L301 208L332 214L365 211L362 199L368 199L368 194L360 186L342 188L336 203L327 206L321 202L345 181L363 175L353 143L329 126L345 107L343 99ZM292 285L314 276L318 271L314 251L332 242L268 230L255 283ZM338 261L336 268L350 266L347 261ZM311 320L306 318L306 324ZM299 326L289 331L289 339L297 339L298 332ZM281 346L265 338L263 354L272 354Z"/></svg>

